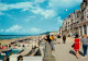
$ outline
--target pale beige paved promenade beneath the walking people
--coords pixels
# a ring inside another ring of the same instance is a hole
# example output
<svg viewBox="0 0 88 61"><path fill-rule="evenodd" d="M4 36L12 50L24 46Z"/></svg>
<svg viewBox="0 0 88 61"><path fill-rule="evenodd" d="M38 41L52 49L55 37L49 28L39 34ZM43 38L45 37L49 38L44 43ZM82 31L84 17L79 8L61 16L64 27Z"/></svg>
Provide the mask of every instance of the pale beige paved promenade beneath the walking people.
<svg viewBox="0 0 88 61"><path fill-rule="evenodd" d="M79 59L75 57L75 51L72 48L72 45L74 44L74 38L67 38L66 44L63 44L63 40L61 39L61 44L55 45L55 51L53 52L53 56L55 57L56 61L88 61L88 57L86 59L82 59L82 47L80 47L80 56Z"/></svg>

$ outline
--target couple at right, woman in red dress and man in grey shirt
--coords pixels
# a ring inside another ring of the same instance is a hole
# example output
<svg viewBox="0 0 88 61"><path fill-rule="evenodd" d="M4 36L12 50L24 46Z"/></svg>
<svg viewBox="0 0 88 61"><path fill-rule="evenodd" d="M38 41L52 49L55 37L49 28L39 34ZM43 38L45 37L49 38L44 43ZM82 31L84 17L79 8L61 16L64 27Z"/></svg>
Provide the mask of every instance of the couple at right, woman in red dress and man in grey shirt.
<svg viewBox="0 0 88 61"><path fill-rule="evenodd" d="M76 51L76 58L79 58L79 48L80 46L82 46L82 58L87 57L87 46L88 46L88 38L87 35L84 35L84 37L80 37L78 35L76 35L75 37L75 44L74 44L74 50Z"/></svg>

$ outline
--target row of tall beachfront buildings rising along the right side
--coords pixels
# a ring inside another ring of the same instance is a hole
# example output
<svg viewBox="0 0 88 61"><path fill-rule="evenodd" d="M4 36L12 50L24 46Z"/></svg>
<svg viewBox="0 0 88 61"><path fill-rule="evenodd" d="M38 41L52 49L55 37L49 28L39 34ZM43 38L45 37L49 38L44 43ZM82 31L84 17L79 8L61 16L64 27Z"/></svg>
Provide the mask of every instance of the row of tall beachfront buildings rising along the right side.
<svg viewBox="0 0 88 61"><path fill-rule="evenodd" d="M63 22L62 35L75 35L88 36L88 0L82 0L79 10L75 10L74 13L70 13Z"/></svg>

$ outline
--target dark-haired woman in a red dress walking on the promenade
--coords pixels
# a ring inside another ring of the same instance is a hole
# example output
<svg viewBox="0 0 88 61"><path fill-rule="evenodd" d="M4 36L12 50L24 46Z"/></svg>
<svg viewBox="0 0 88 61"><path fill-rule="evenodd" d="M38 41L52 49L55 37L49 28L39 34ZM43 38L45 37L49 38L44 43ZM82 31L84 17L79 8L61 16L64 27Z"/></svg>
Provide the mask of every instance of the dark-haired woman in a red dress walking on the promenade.
<svg viewBox="0 0 88 61"><path fill-rule="evenodd" d="M80 44L80 40L78 38L78 35L76 35L76 37L75 37L75 44L74 44L74 50L76 52L76 58L77 59L79 58L79 44Z"/></svg>

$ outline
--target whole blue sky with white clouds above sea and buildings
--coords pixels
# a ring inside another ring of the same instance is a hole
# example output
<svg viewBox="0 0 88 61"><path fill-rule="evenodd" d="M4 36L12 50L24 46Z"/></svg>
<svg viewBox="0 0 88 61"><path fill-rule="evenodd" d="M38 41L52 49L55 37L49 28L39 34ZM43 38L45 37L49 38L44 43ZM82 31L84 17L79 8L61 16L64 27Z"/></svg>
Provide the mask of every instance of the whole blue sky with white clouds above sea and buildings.
<svg viewBox="0 0 88 61"><path fill-rule="evenodd" d="M0 0L0 35L58 30L82 0Z"/></svg>

